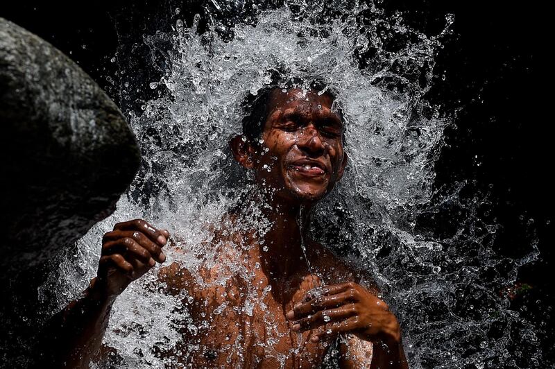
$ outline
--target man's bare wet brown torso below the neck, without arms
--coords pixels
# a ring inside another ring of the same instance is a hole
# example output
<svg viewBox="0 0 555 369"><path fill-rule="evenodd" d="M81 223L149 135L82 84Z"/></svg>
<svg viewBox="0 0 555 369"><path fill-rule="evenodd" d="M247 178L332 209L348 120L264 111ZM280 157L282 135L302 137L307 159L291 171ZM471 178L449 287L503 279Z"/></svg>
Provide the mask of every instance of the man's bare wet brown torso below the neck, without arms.
<svg viewBox="0 0 555 369"><path fill-rule="evenodd" d="M285 314L317 286L358 278L322 249L312 265L318 275L301 268L282 280L270 280L256 250L223 250L219 263L193 273L178 263L160 270L160 281L182 299L191 318L183 325L182 342L167 354L194 368L320 365L331 340L313 343L313 331L293 332Z"/></svg>

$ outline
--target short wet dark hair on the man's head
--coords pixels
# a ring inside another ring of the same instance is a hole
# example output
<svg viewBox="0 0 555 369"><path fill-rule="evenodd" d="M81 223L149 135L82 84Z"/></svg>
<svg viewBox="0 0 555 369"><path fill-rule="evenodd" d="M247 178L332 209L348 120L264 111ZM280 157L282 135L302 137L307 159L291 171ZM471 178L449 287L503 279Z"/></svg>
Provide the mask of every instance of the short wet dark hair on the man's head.
<svg viewBox="0 0 555 369"><path fill-rule="evenodd" d="M262 87L262 89L258 90L256 95L249 93L241 104L245 111L245 116L243 118L243 135L245 135L249 141L253 142L257 142L262 136L264 124L266 124L266 119L268 119L268 102L270 101L271 93L275 89L291 89L302 87L303 85L305 85L305 80L301 80L300 78L289 78L284 84L279 84L278 81L275 81L274 83ZM322 78L312 79L309 87L315 91L324 91L323 93L329 94L332 96L332 99L336 97L334 92L327 89L327 84ZM338 109L338 113L339 118L344 123L341 109ZM343 144L344 143L345 141L343 139Z"/></svg>

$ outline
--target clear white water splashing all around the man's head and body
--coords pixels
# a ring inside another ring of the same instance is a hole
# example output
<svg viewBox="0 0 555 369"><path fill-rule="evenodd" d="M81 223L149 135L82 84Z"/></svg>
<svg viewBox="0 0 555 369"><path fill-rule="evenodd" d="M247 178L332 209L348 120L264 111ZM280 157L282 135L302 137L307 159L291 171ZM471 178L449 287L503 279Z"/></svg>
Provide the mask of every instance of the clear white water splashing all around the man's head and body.
<svg viewBox="0 0 555 369"><path fill-rule="evenodd" d="M217 244L214 234L256 229L262 239L270 224L254 200L243 205L249 217L226 221L239 200L257 191L251 174L230 157L228 140L241 134L247 94L257 94L278 71L282 80L323 78L336 94L349 165L314 210L309 233L373 273L402 323L411 368L511 366L515 332L529 342L537 337L498 291L537 255L498 257L490 248L495 222L479 215L487 198L465 200L460 194L466 183L433 187L449 122L425 94L452 17L440 35L428 37L374 5L315 2L309 8L296 1L263 11L262 4L241 4L238 10L237 3L213 1L204 33L196 17L191 28L178 21L173 33L145 37L166 58L164 76L150 83L159 97L130 113L142 168L117 212L78 241L76 255L60 256L60 270L44 286L58 291L58 307L94 277L102 234L119 221L146 218L171 230L176 246L167 248L167 263L185 266L201 286L209 282L195 271L221 262L207 247ZM218 15L225 11L244 22L224 24ZM160 46L168 42L171 49ZM430 224L453 214L459 214L458 228L434 232ZM247 246L236 247L240 252ZM225 268L247 273L233 262ZM205 329L189 314L192 297L164 293L157 273L155 267L114 304L105 344L117 350L121 368L163 367L170 359L160 352L176 352L183 329L192 336ZM264 311L263 300L264 293L248 291L244 314L252 316L255 307ZM225 302L213 314L223 309ZM534 347L520 349L531 363L541 358ZM187 355L195 347L180 350Z"/></svg>

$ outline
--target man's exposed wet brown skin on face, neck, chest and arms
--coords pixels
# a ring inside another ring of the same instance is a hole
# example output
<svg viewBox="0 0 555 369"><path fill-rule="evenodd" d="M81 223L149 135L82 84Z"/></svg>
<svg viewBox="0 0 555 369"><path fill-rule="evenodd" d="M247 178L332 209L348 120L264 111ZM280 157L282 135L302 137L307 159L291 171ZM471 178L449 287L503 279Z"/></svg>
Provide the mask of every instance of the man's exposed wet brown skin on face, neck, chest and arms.
<svg viewBox="0 0 555 369"><path fill-rule="evenodd" d="M261 200L269 203L272 209L266 214L273 224L264 237L265 244L271 245L267 252L263 252L261 245L248 235L232 234L221 243L224 246L221 246L220 255L237 252L233 246L234 237L242 237L242 241L250 245L244 255L248 257L237 260L248 260L243 262L253 272L253 280L230 278L232 282L225 287L203 290L175 263L161 269L160 280L166 282L169 293L185 289L197 300L205 301L205 307L221 304L218 296L223 292L232 295L232 291L241 291L245 283L259 292L272 286L271 293L264 300L268 309L264 314L273 316L282 337L291 337L278 340L272 347L275 352L289 355L285 361L287 368L314 367L325 354L325 347L320 343L329 342L337 335L346 337L340 347L340 363L344 368L368 367L370 357L372 368L408 368L398 320L387 304L377 298L375 289L359 284L364 277L361 273L345 266L325 248L309 240L305 240L307 259L314 270L321 273L314 275L305 262L299 262L304 255L297 222L299 212L305 209L302 222L307 224L310 209L341 179L347 162L343 149L343 124L332 112L332 102L329 94L303 93L299 89L289 89L284 93L274 89L266 107L262 144L244 141L242 137L230 141L235 160L255 172L259 187L266 189ZM144 275L156 263L165 261L162 248L168 238L167 230L157 230L140 219L118 223L112 232L105 234L98 276L85 291L85 298L70 304L62 312L63 324L80 327L74 329L78 332L77 337L71 340L64 358L67 367L87 367L99 352L115 298L130 282ZM225 264L225 260L222 261ZM225 273L221 270L205 272L206 276ZM327 285L323 285L323 280ZM218 290L222 288L223 291ZM231 302L230 307L233 304ZM85 313L79 315L76 311ZM193 311L194 315L200 313L204 311ZM245 318L248 320L248 317L237 316L228 309L212 322L213 329L203 332L205 336L201 341L221 346L223 332L227 332L228 339L237 338L239 333L244 336L244 332L238 333L229 327L237 326L239 321L244 323ZM264 321L250 321L249 324L255 338L268 334ZM226 331L228 328L231 329L229 332ZM297 333L302 334L300 343L295 338ZM184 341L187 341L185 336ZM275 367L277 362L265 359L264 350L260 352L255 343L245 343L243 350L254 352L256 359L242 358L241 363L244 366L250 363L249 367L254 363L260 368ZM292 350L297 351L292 354ZM225 365L226 362L217 355L207 359L206 354L194 355L192 360L208 366Z"/></svg>

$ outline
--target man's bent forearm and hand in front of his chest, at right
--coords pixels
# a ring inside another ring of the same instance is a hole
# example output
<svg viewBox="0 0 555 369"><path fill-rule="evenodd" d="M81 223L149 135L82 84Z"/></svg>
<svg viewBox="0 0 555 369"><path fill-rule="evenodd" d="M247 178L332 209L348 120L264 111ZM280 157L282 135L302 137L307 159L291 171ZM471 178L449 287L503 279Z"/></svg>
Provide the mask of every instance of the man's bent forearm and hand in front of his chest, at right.
<svg viewBox="0 0 555 369"><path fill-rule="evenodd" d="M293 330L316 329L312 342L329 336L352 335L341 347L345 368L359 368L364 361L370 368L408 369L401 342L401 329L387 304L360 284L347 282L309 291L287 313Z"/></svg>

